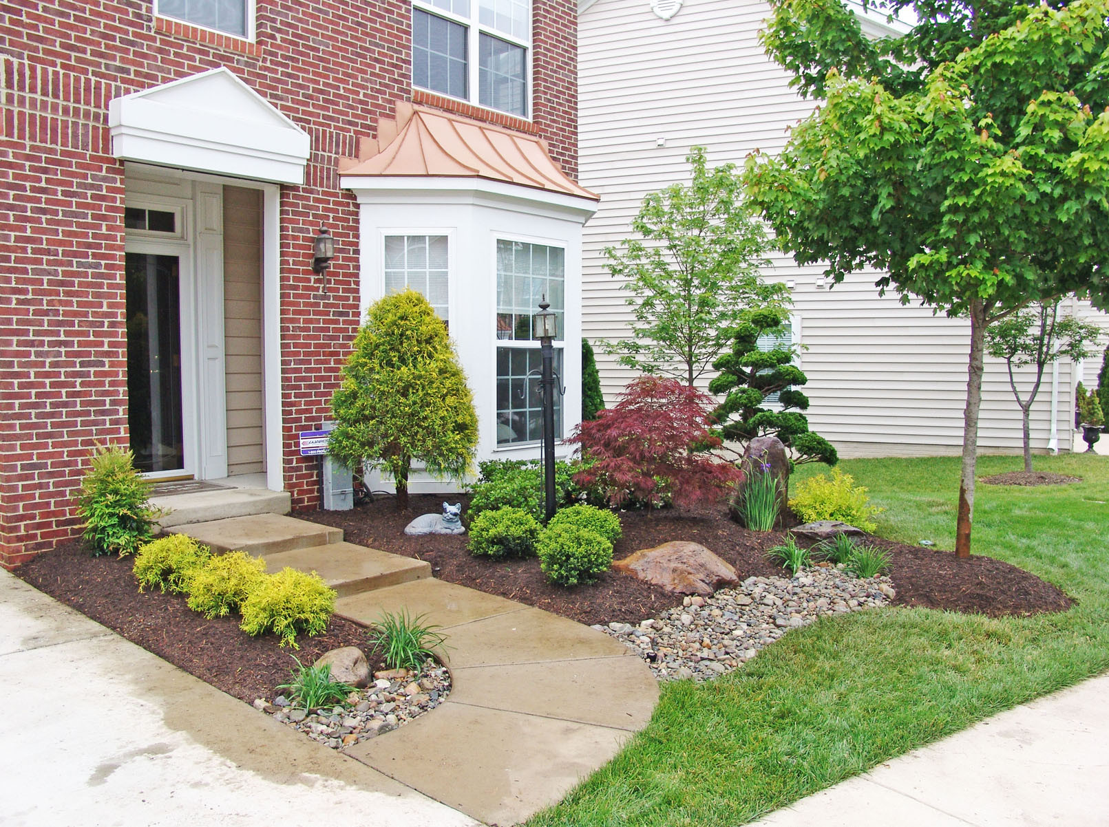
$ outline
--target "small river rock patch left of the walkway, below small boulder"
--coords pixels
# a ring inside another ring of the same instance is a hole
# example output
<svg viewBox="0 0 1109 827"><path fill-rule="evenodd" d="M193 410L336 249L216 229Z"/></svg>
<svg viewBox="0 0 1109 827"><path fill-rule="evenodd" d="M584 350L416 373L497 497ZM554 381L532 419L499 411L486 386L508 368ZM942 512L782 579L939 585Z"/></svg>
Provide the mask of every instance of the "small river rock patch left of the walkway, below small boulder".
<svg viewBox="0 0 1109 827"><path fill-rule="evenodd" d="M369 686L352 692L345 704L304 709L277 695L273 703L258 698L254 706L313 741L342 749L404 726L441 704L449 693L450 672L429 660L419 674L375 672Z"/></svg>

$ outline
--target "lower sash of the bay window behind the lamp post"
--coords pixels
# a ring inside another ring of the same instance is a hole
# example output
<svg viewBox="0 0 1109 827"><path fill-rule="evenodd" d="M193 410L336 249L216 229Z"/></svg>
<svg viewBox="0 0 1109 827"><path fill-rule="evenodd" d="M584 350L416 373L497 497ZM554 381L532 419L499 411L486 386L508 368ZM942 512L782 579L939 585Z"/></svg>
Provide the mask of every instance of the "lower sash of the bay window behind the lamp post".
<svg viewBox="0 0 1109 827"><path fill-rule="evenodd" d="M554 348L561 385L562 348ZM497 443L538 442L543 436L542 353L538 348L497 348ZM554 438L562 438L562 395L554 392Z"/></svg>

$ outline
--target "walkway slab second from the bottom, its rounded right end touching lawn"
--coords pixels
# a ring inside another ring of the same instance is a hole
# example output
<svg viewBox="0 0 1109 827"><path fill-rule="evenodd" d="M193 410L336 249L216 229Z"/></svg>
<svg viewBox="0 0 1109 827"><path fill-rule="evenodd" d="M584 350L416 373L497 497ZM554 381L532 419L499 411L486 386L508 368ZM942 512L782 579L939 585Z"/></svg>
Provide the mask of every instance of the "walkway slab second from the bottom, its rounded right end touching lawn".
<svg viewBox="0 0 1109 827"><path fill-rule="evenodd" d="M455 703L633 732L647 726L659 700L659 684L638 657L456 666L451 674Z"/></svg>

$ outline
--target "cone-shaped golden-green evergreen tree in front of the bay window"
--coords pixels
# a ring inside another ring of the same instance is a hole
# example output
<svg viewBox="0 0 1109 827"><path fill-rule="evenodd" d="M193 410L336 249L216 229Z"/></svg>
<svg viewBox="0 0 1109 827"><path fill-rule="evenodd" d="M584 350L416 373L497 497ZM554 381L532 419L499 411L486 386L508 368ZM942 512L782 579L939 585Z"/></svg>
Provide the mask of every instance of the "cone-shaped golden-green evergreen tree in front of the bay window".
<svg viewBox="0 0 1109 827"><path fill-rule="evenodd" d="M478 440L474 396L446 326L420 294L390 294L369 308L332 416L328 453L350 468L365 461L388 471L399 510L408 508L414 460L433 474L466 473Z"/></svg>

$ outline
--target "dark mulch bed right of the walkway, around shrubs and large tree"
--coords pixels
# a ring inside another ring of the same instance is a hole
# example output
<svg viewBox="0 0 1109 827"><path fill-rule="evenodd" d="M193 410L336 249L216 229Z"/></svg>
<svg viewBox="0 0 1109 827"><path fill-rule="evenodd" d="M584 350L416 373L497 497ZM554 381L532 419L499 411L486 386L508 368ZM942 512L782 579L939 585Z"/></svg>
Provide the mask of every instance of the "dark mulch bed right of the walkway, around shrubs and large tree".
<svg viewBox="0 0 1109 827"><path fill-rule="evenodd" d="M465 497L449 496L451 502ZM467 535L408 537L405 525L418 514L438 513L442 496L410 496L409 510L398 512L391 497L376 497L352 511L304 511L296 515L340 528L347 542L426 560L433 574L459 585L527 603L586 623L637 624L681 604L681 596L610 571L591 585L572 589L547 582L535 558L494 561L466 550ZM766 560L765 552L785 540L784 532L753 532L728 518L723 507L653 513L620 514L623 537L613 557L619 560L639 549L670 540L701 543L731 563L740 580L781 576L784 570ZM954 552L905 545L878 538L867 543L889 552L889 576L895 605L947 609L989 616L1060 612L1071 600L1035 574L979 554L958 560Z"/></svg>

